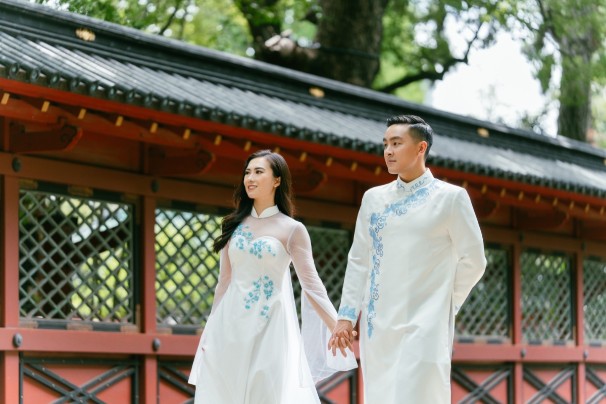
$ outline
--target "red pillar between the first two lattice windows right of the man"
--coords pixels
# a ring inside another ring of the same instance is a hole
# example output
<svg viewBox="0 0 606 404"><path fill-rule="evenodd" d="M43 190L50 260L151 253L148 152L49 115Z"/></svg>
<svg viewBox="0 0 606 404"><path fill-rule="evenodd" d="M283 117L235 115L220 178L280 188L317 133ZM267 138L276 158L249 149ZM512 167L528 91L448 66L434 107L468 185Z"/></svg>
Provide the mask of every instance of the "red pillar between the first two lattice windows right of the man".
<svg viewBox="0 0 606 404"><path fill-rule="evenodd" d="M511 254L513 268L513 291L511 293L511 299L513 299L513 314L512 320L512 332L511 339L514 345L522 344L522 267L520 265L520 255L522 253L522 247L520 243L514 243L513 251ZM522 389L524 388L524 374L523 374L522 362L516 362L513 369L513 403L523 404L524 394Z"/></svg>

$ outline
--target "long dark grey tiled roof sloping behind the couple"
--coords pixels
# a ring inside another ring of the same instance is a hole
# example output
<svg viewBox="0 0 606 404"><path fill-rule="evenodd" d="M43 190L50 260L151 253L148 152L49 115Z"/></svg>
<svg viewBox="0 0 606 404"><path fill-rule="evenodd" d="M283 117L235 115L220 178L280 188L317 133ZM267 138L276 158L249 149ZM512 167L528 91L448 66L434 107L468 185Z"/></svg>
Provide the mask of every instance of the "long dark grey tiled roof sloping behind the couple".
<svg viewBox="0 0 606 404"><path fill-rule="evenodd" d="M95 41L79 39L82 29ZM15 80L366 153L382 154L385 118L418 114L436 132L429 164L606 197L606 151L587 144L29 2L0 0L0 65Z"/></svg>

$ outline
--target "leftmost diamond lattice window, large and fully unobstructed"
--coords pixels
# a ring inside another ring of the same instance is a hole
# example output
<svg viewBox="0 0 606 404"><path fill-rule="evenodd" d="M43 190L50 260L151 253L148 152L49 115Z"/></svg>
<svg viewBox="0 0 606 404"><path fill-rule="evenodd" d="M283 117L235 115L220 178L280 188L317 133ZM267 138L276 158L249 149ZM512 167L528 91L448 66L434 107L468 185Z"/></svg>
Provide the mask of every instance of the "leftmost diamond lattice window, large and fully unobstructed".
<svg viewBox="0 0 606 404"><path fill-rule="evenodd" d="M133 207L19 193L19 314L132 322Z"/></svg>

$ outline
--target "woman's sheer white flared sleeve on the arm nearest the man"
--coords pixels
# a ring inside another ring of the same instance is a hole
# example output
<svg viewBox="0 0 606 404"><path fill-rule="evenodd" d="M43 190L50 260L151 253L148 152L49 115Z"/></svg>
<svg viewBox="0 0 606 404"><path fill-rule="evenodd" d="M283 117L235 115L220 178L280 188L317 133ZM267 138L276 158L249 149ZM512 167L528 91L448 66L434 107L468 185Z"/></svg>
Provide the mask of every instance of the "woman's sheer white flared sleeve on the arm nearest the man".
<svg viewBox="0 0 606 404"><path fill-rule="evenodd" d="M311 253L311 240L307 229L301 223L297 223L290 234L287 250L301 283L302 348L307 357L313 383L318 383L338 371L356 368L358 363L353 353L350 352L344 357L338 351L337 356L333 357L331 351L328 351L332 334L332 329L328 327L336 324L337 311L328 299L326 288L318 276ZM301 380L301 384L303 386L305 382Z"/></svg>

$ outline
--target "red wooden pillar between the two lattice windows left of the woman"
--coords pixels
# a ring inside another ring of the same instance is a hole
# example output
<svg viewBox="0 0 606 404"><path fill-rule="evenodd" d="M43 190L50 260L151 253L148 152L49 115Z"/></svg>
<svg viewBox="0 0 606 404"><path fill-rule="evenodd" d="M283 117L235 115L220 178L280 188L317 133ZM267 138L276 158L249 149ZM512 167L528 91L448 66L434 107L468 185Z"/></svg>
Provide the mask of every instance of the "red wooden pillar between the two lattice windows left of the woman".
<svg viewBox="0 0 606 404"><path fill-rule="evenodd" d="M156 200L141 204L141 332L156 333ZM160 351L162 348L160 348ZM158 404L158 359L146 355L141 367L141 404Z"/></svg>

